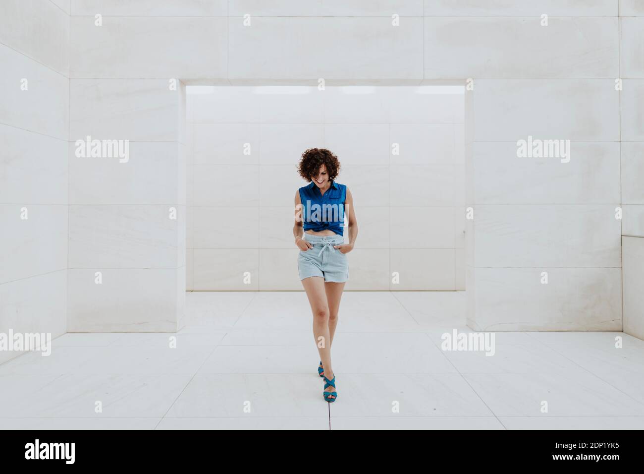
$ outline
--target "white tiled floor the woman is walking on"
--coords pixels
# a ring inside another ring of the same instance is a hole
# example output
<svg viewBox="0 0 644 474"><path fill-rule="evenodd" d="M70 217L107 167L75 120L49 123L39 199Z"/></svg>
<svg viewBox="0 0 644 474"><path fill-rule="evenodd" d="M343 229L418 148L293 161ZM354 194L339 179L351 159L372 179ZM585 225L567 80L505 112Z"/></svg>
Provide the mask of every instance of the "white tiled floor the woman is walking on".
<svg viewBox="0 0 644 474"><path fill-rule="evenodd" d="M442 333L469 332L464 304L346 292L327 404L305 293L187 293L176 348L168 333L76 333L0 365L0 428L644 428L644 341L515 332L495 334L493 357L442 351Z"/></svg>

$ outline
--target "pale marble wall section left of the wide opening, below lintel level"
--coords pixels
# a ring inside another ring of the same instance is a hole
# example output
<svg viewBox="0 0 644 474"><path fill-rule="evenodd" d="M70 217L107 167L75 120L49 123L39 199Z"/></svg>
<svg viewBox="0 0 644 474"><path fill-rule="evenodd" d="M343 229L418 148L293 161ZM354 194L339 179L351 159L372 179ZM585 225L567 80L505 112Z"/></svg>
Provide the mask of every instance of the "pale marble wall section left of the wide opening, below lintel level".
<svg viewBox="0 0 644 474"><path fill-rule="evenodd" d="M128 161L77 157L87 136L128 140ZM184 84L71 79L68 331L181 325L185 136Z"/></svg>

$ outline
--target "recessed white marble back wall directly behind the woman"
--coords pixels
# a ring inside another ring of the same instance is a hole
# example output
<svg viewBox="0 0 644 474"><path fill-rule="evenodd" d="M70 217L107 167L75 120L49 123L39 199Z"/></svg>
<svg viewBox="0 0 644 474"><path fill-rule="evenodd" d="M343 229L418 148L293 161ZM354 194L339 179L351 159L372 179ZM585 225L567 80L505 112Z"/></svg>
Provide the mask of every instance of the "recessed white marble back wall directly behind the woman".
<svg viewBox="0 0 644 474"><path fill-rule="evenodd" d="M315 146L354 195L347 290L464 289L462 86L195 87L188 103L188 290L301 290L296 166Z"/></svg>

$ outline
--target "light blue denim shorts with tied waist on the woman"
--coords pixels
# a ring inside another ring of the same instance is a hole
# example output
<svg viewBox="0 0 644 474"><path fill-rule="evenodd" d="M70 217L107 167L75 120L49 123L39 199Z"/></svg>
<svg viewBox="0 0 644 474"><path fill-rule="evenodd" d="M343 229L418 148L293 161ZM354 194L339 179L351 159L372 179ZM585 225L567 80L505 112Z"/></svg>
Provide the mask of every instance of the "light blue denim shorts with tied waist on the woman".
<svg viewBox="0 0 644 474"><path fill-rule="evenodd" d="M334 245L345 243L345 238L336 235L311 235L304 233L302 237L313 245L298 255L299 279L308 277L323 277L324 281L343 283L349 278L349 265L346 255Z"/></svg>

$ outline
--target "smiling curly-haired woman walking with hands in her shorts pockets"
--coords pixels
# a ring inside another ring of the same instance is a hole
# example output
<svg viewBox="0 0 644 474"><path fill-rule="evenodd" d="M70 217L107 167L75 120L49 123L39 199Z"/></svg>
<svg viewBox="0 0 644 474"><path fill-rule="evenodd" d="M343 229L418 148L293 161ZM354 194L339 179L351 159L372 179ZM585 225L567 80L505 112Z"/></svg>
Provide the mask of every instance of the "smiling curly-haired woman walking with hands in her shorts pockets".
<svg viewBox="0 0 644 474"><path fill-rule="evenodd" d="M310 148L302 153L299 175L310 184L295 193L293 227L295 244L300 251L299 279L311 305L313 335L321 359L317 372L324 377L322 395L327 402L337 398L331 344L340 298L349 276L346 253L353 250L358 235L351 193L345 184L335 181L339 170L337 156L324 148Z"/></svg>

